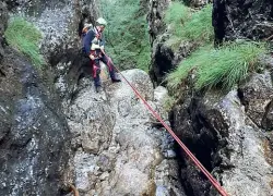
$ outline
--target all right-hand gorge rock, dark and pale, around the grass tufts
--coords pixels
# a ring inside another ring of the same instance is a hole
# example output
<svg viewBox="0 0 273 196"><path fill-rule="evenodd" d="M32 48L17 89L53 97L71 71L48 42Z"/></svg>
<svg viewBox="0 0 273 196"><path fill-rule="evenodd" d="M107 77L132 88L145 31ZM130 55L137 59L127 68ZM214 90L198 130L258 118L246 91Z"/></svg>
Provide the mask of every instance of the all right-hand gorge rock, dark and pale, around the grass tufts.
<svg viewBox="0 0 273 196"><path fill-rule="evenodd" d="M164 28L164 12L159 8L166 9L169 2L161 3L163 1L151 1L151 29L157 29L158 24ZM193 1L186 3L197 7ZM154 14L156 10L159 13ZM215 41L270 39L272 11L271 1L215 0L212 13ZM166 73L194 48L181 44L174 51L164 45L168 39L164 30L154 30L152 36L155 38L150 74L155 84L161 84ZM229 93L197 91L192 86L194 72L188 77L186 86L176 89L180 90L180 97L170 113L173 128L230 195L273 194L271 57L262 59L261 63L265 64L265 70L252 73L245 83ZM178 151L186 194L217 195L179 147Z"/></svg>

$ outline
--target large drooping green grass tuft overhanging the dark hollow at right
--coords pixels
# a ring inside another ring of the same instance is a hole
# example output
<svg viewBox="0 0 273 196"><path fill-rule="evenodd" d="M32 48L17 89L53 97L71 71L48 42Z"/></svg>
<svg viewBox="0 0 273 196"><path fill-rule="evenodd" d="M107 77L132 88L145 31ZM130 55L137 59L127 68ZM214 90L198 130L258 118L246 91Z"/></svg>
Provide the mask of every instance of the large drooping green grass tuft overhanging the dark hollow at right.
<svg viewBox="0 0 273 196"><path fill-rule="evenodd" d="M197 89L221 86L228 90L246 78L249 72L259 68L259 57L265 52L263 44L247 41L226 45L218 49L212 46L202 47L168 75L168 86L177 88L194 69Z"/></svg>

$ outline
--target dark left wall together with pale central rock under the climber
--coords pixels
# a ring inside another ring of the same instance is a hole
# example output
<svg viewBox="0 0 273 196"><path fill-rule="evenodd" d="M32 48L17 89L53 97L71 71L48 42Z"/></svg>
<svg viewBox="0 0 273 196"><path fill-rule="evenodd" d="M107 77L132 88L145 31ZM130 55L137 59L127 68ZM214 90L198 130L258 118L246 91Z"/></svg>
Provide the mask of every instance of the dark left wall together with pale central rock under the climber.
<svg viewBox="0 0 273 196"><path fill-rule="evenodd" d="M169 135L124 82L96 94L82 69L78 29L97 16L95 5L1 1L1 195L71 195L70 184L81 195L185 195ZM8 13L41 32L43 69L3 41ZM167 90L154 91L143 71L123 74L167 120Z"/></svg>

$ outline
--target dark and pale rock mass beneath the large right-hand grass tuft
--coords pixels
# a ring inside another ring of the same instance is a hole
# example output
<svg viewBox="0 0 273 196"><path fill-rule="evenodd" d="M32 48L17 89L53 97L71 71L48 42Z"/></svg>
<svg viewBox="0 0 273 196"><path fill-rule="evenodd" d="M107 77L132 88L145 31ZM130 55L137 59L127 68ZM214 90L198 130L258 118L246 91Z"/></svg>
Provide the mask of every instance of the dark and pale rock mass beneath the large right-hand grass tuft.
<svg viewBox="0 0 273 196"><path fill-rule="evenodd" d="M186 98L174 110L174 128L229 195L272 195L272 82L254 74L227 95L206 93ZM187 96L186 96L187 97ZM206 180L182 160L186 192L215 195Z"/></svg>

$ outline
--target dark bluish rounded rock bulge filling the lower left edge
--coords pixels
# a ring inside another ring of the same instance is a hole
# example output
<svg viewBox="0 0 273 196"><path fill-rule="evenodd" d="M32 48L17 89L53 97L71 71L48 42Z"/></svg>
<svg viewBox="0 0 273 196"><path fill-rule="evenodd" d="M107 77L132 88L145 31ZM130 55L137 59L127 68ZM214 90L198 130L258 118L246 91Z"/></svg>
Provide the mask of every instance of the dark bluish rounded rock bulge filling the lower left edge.
<svg viewBox="0 0 273 196"><path fill-rule="evenodd" d="M26 59L0 48L0 195L60 195L71 150L59 100Z"/></svg>

